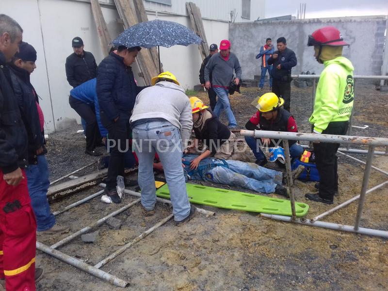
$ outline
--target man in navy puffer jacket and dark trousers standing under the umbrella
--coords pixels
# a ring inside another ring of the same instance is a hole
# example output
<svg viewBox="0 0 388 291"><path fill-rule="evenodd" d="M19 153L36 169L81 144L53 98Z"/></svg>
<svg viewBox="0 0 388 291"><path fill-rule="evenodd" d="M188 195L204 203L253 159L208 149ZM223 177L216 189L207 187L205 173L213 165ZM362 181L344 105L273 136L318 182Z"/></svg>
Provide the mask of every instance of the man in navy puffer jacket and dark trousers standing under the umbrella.
<svg viewBox="0 0 388 291"><path fill-rule="evenodd" d="M121 198L116 191L117 176L124 177L124 156L129 150L129 117L136 96L145 87L137 86L130 65L135 62L140 47L119 46L103 59L97 70L97 98L102 125L108 129L110 152L107 195L114 203Z"/></svg>

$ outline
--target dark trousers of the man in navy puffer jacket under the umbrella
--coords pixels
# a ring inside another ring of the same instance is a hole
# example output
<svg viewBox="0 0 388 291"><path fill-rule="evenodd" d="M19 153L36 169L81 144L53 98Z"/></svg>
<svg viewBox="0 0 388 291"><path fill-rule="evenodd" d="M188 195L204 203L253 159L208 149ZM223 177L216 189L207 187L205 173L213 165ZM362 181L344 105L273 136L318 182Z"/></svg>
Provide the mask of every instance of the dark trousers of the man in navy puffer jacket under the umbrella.
<svg viewBox="0 0 388 291"><path fill-rule="evenodd" d="M108 191L116 189L117 176L124 177L125 154L129 147L129 115L120 113L116 122L109 119L104 112L100 113L101 123L108 130L107 147L110 153L108 165L108 178L106 186Z"/></svg>

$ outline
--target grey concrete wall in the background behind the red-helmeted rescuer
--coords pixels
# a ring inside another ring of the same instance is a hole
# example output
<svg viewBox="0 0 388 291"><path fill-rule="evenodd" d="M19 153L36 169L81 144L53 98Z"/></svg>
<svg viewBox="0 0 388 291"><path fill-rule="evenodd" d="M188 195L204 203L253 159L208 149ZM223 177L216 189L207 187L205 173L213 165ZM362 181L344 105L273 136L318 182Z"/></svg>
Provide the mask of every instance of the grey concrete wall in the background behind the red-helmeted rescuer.
<svg viewBox="0 0 388 291"><path fill-rule="evenodd" d="M253 79L254 75L260 74L261 59L256 60L255 56L265 39L271 37L275 43L280 36L287 39L287 47L295 51L298 59L298 65L292 69L294 74L307 70L319 74L323 65L316 62L314 50L307 47L307 35L320 27L332 25L339 29L343 39L350 44L350 47L344 47L343 54L355 66L355 74L380 75L386 21L386 16L365 16L231 23L229 38L233 51L239 57L242 77L245 79ZM247 39L251 41L247 42Z"/></svg>

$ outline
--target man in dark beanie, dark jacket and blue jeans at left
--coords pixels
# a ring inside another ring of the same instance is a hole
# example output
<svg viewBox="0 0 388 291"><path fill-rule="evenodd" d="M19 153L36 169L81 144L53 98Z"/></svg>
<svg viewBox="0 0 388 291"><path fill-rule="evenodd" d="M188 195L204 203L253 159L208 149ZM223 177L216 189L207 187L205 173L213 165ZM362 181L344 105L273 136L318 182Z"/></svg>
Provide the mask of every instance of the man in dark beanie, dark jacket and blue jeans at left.
<svg viewBox="0 0 388 291"><path fill-rule="evenodd" d="M36 50L32 45L22 42L9 66L15 96L27 130L29 166L25 171L37 231L55 234L68 231L68 227L55 224L55 217L47 201L50 181L45 157L47 150L44 147L44 120L39 118L37 95L30 82L30 74L36 68L35 61ZM43 113L41 115L43 117Z"/></svg>

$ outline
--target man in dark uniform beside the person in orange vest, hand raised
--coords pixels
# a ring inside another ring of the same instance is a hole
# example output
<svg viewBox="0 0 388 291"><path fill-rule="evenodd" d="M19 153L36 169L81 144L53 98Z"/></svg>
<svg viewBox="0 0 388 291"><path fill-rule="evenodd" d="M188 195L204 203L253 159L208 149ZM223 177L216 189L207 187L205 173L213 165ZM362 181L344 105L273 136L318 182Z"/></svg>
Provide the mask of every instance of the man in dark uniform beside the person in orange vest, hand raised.
<svg viewBox="0 0 388 291"><path fill-rule="evenodd" d="M282 36L276 40L277 50L268 60L272 68L272 92L284 99L284 109L290 112L291 102L291 68L296 65L295 53L287 48L286 39Z"/></svg>

